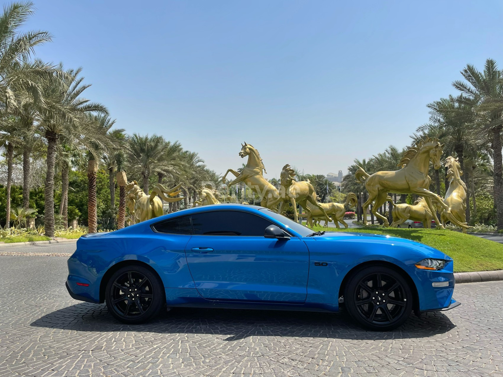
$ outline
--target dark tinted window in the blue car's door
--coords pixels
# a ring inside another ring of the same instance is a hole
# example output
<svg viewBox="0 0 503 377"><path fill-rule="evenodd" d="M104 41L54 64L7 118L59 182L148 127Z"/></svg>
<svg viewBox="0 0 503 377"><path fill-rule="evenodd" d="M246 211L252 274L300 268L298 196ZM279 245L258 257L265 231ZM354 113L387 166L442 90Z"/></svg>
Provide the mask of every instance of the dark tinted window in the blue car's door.
<svg viewBox="0 0 503 377"><path fill-rule="evenodd" d="M263 217L238 211L213 211L192 215L194 234L213 236L261 236L273 223Z"/></svg>

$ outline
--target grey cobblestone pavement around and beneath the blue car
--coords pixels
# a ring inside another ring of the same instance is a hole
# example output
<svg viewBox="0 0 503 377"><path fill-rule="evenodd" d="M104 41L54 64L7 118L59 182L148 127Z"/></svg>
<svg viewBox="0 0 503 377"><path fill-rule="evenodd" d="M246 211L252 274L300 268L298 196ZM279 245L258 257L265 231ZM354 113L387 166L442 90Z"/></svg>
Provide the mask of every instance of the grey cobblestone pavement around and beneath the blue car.
<svg viewBox="0 0 503 377"><path fill-rule="evenodd" d="M178 309L145 325L72 300L65 257L0 256L0 376L503 376L503 281L383 333L343 314Z"/></svg>

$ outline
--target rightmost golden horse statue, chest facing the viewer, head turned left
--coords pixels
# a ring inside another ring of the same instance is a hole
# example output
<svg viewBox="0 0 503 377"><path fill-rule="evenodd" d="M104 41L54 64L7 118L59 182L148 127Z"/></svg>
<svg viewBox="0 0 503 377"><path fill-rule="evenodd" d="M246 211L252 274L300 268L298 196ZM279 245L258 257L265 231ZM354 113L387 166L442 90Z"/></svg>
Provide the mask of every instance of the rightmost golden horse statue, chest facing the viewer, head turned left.
<svg viewBox="0 0 503 377"><path fill-rule="evenodd" d="M460 223L466 222L466 184L461 179L463 171L457 158L449 156L446 158L447 179L449 180L449 189L445 193L444 204L451 209L454 218ZM445 225L447 220L450 220L444 213L440 211L440 220ZM466 228L463 227L463 233L466 233Z"/></svg>

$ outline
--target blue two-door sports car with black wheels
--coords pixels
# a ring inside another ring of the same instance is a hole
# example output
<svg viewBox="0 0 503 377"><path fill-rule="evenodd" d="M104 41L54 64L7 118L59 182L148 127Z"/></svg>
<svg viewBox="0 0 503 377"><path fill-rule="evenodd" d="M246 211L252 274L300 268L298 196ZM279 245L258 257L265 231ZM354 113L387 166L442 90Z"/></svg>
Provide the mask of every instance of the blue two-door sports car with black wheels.
<svg viewBox="0 0 503 377"><path fill-rule="evenodd" d="M125 323L167 307L346 311L390 330L459 305L453 260L406 239L313 232L267 208L197 207L77 241L66 288ZM340 300L343 298L343 300Z"/></svg>

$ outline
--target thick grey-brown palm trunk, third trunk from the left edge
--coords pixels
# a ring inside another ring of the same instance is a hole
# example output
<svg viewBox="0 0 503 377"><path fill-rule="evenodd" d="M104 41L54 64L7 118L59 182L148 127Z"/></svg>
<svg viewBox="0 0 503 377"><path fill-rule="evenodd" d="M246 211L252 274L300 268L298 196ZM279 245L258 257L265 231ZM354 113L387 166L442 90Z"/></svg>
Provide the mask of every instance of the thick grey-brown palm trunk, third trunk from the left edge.
<svg viewBox="0 0 503 377"><path fill-rule="evenodd" d="M45 138L47 139L47 174L44 187L44 229L47 237L54 237L54 165L59 135L53 131L46 131Z"/></svg>

